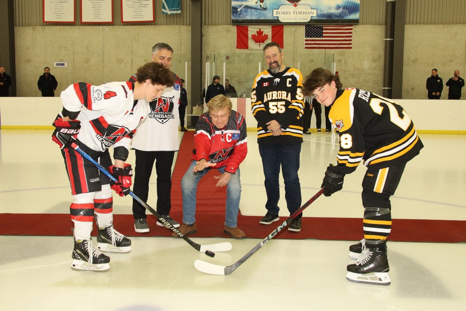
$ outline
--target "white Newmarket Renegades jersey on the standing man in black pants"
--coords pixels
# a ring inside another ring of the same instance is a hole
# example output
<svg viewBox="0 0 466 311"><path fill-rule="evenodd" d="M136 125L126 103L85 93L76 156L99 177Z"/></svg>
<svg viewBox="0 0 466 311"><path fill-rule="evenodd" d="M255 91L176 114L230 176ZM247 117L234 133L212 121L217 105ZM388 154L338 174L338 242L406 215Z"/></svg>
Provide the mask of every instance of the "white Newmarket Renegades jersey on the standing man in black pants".
<svg viewBox="0 0 466 311"><path fill-rule="evenodd" d="M130 81L135 80L133 77ZM150 102L146 120L133 137L132 148L141 151L178 151L178 125L182 82L175 74L175 84L167 87L162 95Z"/></svg>

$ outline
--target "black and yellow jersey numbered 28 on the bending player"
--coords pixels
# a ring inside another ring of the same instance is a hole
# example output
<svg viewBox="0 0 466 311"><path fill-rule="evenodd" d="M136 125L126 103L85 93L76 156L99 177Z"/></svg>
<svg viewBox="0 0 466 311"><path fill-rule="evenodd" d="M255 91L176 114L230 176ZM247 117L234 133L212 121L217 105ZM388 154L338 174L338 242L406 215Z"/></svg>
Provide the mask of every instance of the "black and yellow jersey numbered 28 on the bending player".
<svg viewBox="0 0 466 311"><path fill-rule="evenodd" d="M343 174L361 161L374 169L405 163L424 147L400 105L362 89L338 90L329 119L340 136L337 168Z"/></svg>

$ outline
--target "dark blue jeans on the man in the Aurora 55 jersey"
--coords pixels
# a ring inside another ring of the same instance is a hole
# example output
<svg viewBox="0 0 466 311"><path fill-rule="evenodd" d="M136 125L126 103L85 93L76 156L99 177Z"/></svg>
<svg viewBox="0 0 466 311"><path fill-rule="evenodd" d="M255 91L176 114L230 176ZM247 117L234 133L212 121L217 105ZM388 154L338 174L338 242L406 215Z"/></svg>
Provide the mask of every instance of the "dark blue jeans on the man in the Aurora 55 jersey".
<svg viewBox="0 0 466 311"><path fill-rule="evenodd" d="M269 213L278 215L280 211L280 207L278 207L278 201L280 200L280 167L282 167L285 182L285 200L290 215L300 208L301 185L298 176L300 152L300 144L259 145L267 194L266 209ZM298 217L301 216L302 213Z"/></svg>

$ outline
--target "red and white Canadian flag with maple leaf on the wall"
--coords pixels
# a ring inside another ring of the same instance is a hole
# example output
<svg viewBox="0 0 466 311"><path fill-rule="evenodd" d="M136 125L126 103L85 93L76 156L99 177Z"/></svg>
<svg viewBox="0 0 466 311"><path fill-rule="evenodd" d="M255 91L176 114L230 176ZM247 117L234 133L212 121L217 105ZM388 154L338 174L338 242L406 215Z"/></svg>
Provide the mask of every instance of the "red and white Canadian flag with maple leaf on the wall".
<svg viewBox="0 0 466 311"><path fill-rule="evenodd" d="M283 48L283 25L236 26L236 49L262 50L269 42Z"/></svg>

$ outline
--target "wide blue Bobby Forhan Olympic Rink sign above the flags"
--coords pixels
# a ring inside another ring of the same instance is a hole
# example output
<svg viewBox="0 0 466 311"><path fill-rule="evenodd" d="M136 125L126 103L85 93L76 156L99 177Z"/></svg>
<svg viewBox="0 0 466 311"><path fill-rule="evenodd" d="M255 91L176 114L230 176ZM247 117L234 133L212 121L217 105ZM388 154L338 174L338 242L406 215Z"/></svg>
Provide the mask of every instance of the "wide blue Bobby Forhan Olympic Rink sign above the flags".
<svg viewBox="0 0 466 311"><path fill-rule="evenodd" d="M360 0L232 0L232 24L359 24Z"/></svg>

